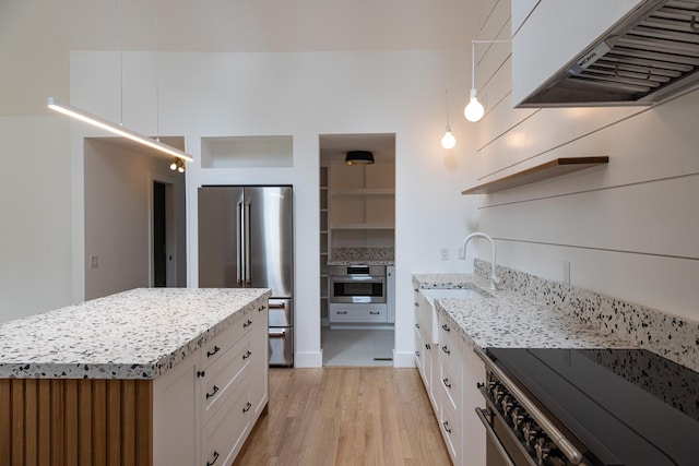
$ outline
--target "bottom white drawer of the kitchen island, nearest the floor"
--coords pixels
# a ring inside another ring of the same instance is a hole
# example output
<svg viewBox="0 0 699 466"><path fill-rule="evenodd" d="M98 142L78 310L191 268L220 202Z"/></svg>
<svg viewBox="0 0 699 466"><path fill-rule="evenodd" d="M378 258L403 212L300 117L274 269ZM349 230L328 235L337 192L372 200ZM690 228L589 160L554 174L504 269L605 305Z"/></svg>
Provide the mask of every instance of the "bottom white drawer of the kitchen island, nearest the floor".
<svg viewBox="0 0 699 466"><path fill-rule="evenodd" d="M250 423L250 384L236 386L201 432L201 465L229 465Z"/></svg>

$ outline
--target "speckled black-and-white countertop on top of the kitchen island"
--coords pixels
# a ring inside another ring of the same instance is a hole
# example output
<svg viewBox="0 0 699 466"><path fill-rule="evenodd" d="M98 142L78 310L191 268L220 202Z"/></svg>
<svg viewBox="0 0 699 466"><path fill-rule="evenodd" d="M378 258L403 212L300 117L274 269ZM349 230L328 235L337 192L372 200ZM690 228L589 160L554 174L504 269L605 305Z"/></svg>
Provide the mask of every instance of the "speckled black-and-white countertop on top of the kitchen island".
<svg viewBox="0 0 699 466"><path fill-rule="evenodd" d="M138 288L0 324L0 378L153 379L268 289Z"/></svg>

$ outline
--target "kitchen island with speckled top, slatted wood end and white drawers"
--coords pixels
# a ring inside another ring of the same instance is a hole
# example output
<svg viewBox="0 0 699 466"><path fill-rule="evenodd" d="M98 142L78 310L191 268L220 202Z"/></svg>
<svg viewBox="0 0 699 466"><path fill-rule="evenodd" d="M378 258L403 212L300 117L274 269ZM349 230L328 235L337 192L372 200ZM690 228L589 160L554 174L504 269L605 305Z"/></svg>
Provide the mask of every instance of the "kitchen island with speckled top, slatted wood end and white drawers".
<svg viewBox="0 0 699 466"><path fill-rule="evenodd" d="M266 407L269 297L134 289L0 324L3 464L229 464Z"/></svg>

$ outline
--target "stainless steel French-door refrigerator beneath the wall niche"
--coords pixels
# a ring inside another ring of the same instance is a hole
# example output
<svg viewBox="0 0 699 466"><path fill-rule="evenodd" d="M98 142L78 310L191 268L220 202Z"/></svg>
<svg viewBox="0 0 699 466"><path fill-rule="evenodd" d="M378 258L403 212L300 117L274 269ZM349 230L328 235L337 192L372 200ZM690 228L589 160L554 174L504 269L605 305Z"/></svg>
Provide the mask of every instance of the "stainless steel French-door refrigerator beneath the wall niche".
<svg viewBox="0 0 699 466"><path fill-rule="evenodd" d="M291 187L199 189L199 286L270 288L270 366L294 365Z"/></svg>

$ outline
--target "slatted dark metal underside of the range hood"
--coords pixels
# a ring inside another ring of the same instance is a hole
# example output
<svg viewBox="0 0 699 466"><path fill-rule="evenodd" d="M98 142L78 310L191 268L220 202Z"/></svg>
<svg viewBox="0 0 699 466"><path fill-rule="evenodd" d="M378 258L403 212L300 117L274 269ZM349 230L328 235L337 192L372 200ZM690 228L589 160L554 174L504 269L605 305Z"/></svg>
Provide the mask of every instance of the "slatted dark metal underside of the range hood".
<svg viewBox="0 0 699 466"><path fill-rule="evenodd" d="M699 84L699 0L647 0L518 107L652 105Z"/></svg>

